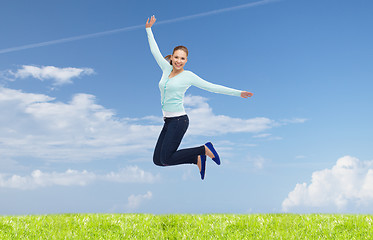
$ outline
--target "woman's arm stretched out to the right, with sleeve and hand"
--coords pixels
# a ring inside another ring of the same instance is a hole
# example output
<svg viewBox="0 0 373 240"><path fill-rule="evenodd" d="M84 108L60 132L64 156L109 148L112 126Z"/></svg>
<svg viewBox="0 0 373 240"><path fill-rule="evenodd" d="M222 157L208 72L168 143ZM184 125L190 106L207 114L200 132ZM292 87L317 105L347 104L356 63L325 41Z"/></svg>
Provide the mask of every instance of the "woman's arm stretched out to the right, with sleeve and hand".
<svg viewBox="0 0 373 240"><path fill-rule="evenodd" d="M247 91L241 91L229 87L224 87L218 84L213 84L210 82L207 82L206 80L203 80L196 74L190 72L192 74L192 85L196 86L198 88L202 88L204 90L207 90L209 92L214 92L214 93L221 93L221 94L226 94L226 95L232 95L232 96L237 96L237 97L242 97L242 98L248 98L253 96L251 92Z"/></svg>

